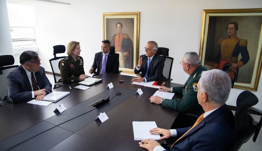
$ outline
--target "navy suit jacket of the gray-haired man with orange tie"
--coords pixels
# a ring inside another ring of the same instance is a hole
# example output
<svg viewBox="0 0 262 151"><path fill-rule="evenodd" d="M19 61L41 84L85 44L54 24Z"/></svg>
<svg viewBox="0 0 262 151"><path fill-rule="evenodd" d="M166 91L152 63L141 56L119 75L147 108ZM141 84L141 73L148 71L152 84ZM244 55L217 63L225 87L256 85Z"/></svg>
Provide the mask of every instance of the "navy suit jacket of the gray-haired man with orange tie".
<svg viewBox="0 0 262 151"><path fill-rule="evenodd" d="M176 129L178 138L191 127ZM178 140L170 150L231 150L236 143L237 127L226 104L205 117Z"/></svg>

